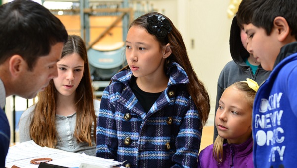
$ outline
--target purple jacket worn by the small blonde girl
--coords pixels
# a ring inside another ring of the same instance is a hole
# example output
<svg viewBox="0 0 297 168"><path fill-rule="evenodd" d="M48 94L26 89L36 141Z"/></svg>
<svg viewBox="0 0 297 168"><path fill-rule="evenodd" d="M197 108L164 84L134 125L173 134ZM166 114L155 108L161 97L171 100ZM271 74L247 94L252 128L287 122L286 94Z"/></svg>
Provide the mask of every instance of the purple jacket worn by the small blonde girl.
<svg viewBox="0 0 297 168"><path fill-rule="evenodd" d="M224 161L217 164L212 156L213 144L203 149L198 158L198 168L254 168L252 161L252 138L246 142L235 145L223 145Z"/></svg>

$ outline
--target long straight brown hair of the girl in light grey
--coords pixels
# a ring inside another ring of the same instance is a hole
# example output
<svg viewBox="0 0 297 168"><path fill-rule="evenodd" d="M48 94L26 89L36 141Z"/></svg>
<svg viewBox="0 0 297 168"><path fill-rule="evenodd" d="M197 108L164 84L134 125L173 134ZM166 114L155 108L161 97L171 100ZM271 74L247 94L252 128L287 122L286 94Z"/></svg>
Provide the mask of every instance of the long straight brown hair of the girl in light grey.
<svg viewBox="0 0 297 168"><path fill-rule="evenodd" d="M94 110L94 95L91 84L89 63L84 41L77 35L69 35L62 51L65 55L77 53L84 60L84 75L76 89L75 108L76 126L74 136L78 142L87 142L92 146L92 134L96 142L96 115ZM30 136L40 146L56 148L59 135L55 127L57 90L53 80L44 91L38 94L38 102L30 124ZM91 128L94 126L93 132Z"/></svg>

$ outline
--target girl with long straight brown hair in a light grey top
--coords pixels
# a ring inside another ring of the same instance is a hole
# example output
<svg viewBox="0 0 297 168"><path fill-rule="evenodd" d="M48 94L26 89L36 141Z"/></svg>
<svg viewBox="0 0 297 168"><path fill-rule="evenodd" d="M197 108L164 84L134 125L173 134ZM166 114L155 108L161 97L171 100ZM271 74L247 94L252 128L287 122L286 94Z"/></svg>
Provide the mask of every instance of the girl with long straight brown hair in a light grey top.
<svg viewBox="0 0 297 168"><path fill-rule="evenodd" d="M38 102L21 116L20 142L95 155L96 115L86 46L81 37L69 35L58 77L38 94Z"/></svg>

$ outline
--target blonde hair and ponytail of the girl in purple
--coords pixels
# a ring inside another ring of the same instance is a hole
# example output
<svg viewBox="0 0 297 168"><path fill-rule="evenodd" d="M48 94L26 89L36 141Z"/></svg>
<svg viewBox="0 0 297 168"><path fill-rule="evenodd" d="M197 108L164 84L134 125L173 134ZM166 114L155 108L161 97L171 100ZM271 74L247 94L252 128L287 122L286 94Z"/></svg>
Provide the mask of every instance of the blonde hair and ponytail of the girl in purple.
<svg viewBox="0 0 297 168"><path fill-rule="evenodd" d="M252 88L248 86L246 82L235 82L229 87L235 87L239 91L242 91L245 94L245 98L248 100L248 104L250 107L253 107L253 102L256 96L256 91L254 91ZM217 136L214 143L213 143L213 149L212 149L212 156L214 159L218 162L218 164L223 162L223 144L224 144L224 138Z"/></svg>

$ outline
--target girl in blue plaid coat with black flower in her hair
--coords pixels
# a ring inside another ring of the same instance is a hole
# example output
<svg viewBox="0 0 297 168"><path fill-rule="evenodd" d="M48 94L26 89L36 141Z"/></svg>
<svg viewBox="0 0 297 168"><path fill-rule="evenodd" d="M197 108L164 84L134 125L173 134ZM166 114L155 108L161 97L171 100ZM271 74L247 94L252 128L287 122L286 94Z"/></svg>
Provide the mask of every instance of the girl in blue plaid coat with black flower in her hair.
<svg viewBox="0 0 297 168"><path fill-rule="evenodd" d="M160 13L142 15L130 25L126 60L103 92L96 156L128 168L197 167L210 103L181 34Z"/></svg>

